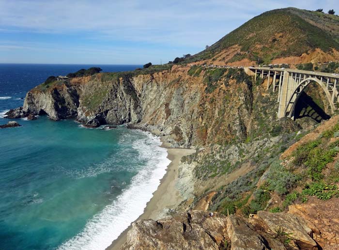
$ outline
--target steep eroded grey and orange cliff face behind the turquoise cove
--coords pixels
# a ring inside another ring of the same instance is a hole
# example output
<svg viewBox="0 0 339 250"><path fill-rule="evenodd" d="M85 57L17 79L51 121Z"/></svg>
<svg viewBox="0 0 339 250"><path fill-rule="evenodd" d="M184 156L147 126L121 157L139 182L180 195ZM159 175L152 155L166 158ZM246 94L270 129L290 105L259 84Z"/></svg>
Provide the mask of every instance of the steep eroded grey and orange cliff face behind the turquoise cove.
<svg viewBox="0 0 339 250"><path fill-rule="evenodd" d="M190 67L173 66L154 74L100 73L42 84L27 94L21 115L46 113L54 120L74 117L94 125L129 124L180 147L245 141L258 128L265 132L277 123L274 96L265 97L262 85L253 86L243 71L189 71ZM271 110L264 112L272 123L263 127L258 115L267 108Z"/></svg>

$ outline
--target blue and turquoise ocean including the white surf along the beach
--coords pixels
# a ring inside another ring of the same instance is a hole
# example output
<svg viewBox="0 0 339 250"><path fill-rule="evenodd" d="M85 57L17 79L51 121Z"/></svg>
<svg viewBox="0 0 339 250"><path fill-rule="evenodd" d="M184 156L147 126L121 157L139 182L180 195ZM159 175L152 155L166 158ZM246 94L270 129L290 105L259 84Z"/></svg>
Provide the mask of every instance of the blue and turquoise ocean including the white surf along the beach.
<svg viewBox="0 0 339 250"><path fill-rule="evenodd" d="M3 114L48 76L140 65L0 64ZM150 133L84 128L74 120L16 120L0 129L0 250L104 250L142 214L166 173Z"/></svg>

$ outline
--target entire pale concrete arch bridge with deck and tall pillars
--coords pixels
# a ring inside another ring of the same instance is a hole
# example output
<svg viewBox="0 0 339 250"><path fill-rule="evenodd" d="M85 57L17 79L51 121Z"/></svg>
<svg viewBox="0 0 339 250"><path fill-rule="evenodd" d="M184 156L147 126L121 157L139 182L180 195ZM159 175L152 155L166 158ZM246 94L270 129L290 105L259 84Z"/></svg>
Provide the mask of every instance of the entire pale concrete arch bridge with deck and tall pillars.
<svg viewBox="0 0 339 250"><path fill-rule="evenodd" d="M287 116L294 119L296 103L311 82L321 86L332 113L339 107L339 75L337 74L268 67L248 67L245 70L250 75L254 74L255 80L258 77L268 78L267 90L272 85L272 91L278 91L278 118Z"/></svg>

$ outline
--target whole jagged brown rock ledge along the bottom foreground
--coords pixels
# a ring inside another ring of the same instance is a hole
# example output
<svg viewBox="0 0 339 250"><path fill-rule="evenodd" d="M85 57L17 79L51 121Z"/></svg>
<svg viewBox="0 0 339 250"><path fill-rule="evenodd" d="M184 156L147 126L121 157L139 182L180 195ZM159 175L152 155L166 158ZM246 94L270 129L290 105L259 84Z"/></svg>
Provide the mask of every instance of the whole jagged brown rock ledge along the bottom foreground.
<svg viewBox="0 0 339 250"><path fill-rule="evenodd" d="M312 229L311 229L312 228ZM133 223L123 250L318 249L314 226L289 213L259 211L249 219L192 211Z"/></svg>

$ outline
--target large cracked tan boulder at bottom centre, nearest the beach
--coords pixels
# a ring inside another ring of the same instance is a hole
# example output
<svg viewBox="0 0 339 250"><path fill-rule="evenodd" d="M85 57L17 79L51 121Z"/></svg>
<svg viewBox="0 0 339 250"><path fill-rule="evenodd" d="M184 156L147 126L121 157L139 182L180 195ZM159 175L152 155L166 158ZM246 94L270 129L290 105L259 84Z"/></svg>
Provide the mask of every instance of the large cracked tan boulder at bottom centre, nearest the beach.
<svg viewBox="0 0 339 250"><path fill-rule="evenodd" d="M226 217L192 211L173 217L146 219L132 224L123 250L216 250L227 242Z"/></svg>

